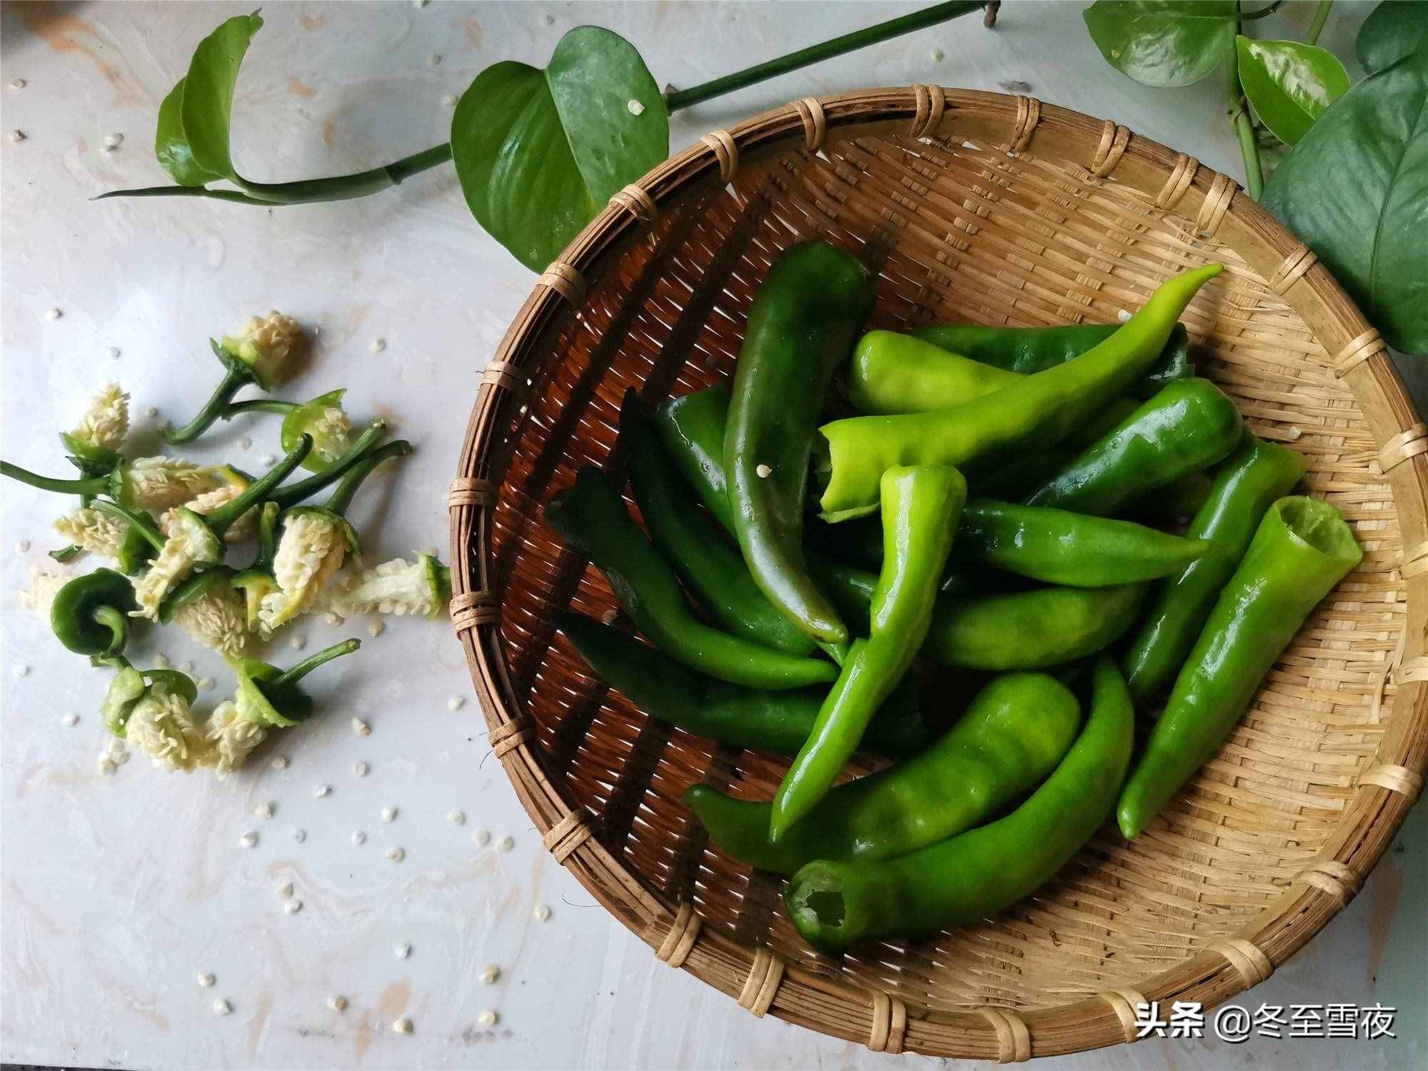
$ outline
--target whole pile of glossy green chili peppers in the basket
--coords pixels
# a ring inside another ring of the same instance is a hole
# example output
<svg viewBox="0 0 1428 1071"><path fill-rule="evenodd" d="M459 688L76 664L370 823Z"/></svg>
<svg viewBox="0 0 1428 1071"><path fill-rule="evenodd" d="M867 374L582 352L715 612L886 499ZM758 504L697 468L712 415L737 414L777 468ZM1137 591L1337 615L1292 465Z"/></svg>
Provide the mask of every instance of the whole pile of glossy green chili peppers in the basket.
<svg viewBox="0 0 1428 1071"><path fill-rule="evenodd" d="M874 276L793 246L733 383L628 391L611 464L550 503L623 611L561 615L590 670L685 733L793 755L773 800L684 801L788 875L815 948L975 922L1112 815L1138 835L1362 557L1289 496L1302 458L1195 377L1178 321L1220 271L1122 324L864 333ZM1158 714L1138 755L1137 711ZM860 751L883 765L848 781Z"/></svg>

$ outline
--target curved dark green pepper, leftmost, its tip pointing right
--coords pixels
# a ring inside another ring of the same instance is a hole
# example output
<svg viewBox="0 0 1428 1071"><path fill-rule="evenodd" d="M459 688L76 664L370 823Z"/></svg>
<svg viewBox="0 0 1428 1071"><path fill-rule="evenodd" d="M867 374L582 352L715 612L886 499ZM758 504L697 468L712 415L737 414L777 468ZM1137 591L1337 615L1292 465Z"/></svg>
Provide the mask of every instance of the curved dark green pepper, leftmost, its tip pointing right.
<svg viewBox="0 0 1428 1071"><path fill-rule="evenodd" d="M545 507L545 523L605 574L640 631L690 668L753 688L801 688L838 675L823 658L774 651L700 621L674 568L598 468L585 466L575 474L575 483Z"/></svg>

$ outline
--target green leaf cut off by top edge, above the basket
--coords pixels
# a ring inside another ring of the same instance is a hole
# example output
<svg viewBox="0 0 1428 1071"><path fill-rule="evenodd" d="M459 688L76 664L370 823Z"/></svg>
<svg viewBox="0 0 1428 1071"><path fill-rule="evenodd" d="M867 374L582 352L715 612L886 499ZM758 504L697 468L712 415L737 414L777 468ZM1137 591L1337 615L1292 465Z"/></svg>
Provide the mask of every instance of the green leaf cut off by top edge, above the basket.
<svg viewBox="0 0 1428 1071"><path fill-rule="evenodd" d="M1145 86L1190 86L1235 44L1234 0L1097 0L1085 29L1105 61Z"/></svg>

